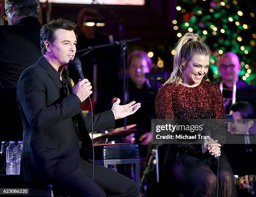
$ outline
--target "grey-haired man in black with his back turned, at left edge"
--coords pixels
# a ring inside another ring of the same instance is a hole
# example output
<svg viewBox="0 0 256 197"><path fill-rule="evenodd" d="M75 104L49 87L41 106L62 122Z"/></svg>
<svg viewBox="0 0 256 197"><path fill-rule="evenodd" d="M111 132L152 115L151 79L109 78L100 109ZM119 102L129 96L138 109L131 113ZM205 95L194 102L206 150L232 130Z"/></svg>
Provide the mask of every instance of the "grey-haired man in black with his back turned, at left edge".
<svg viewBox="0 0 256 197"><path fill-rule="evenodd" d="M0 142L22 140L16 90L20 74L41 56L38 8L38 0L5 0L9 25L0 26L0 124L5 125Z"/></svg>

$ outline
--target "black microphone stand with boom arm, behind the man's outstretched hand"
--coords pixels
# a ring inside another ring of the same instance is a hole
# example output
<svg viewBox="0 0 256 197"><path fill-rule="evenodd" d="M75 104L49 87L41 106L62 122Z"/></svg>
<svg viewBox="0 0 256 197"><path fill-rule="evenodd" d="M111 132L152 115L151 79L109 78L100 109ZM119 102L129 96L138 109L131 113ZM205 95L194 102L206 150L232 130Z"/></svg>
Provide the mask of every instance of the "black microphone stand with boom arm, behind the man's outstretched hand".
<svg viewBox="0 0 256 197"><path fill-rule="evenodd" d="M133 39L127 39L127 40L121 40L121 41L115 41L114 43L109 43L109 44L99 44L96 46L89 46L86 49L82 49L77 51L77 53L79 52L84 52L83 54L77 56L82 57L85 56L87 54L89 54L91 51L93 51L94 49L99 49L102 47L107 47L107 46L120 46L121 50L122 50L122 62L123 62L123 105L125 105L128 102L128 74L126 74L126 56L128 56L128 47L127 47L127 43L128 42L134 42L134 41L139 41L141 38L133 38ZM127 118L125 117L123 119L123 125L124 128L126 129L126 125L127 125Z"/></svg>

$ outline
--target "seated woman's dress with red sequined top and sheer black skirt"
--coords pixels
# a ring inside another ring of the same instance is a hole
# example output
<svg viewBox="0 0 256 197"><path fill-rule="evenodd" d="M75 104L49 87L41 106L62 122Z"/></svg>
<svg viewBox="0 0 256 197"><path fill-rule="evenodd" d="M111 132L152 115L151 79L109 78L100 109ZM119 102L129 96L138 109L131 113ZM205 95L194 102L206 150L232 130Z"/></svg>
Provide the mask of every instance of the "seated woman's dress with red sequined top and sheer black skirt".
<svg viewBox="0 0 256 197"><path fill-rule="evenodd" d="M202 81L197 87L165 84L159 88L156 116L161 119L223 119L223 97L217 85ZM224 132L223 132L224 133ZM218 136L219 138L225 138ZM169 146L164 167L165 177L187 196L213 197L217 192L218 161L200 144ZM219 167L219 196L236 197L233 172L222 153ZM182 193L180 192L180 193Z"/></svg>

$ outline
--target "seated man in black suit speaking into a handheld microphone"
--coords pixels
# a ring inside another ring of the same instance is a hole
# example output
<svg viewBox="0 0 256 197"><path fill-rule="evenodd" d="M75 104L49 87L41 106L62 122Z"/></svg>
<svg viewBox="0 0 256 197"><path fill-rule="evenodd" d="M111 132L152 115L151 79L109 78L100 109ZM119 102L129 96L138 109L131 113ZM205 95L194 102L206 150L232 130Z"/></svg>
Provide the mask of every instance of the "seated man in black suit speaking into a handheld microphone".
<svg viewBox="0 0 256 197"><path fill-rule="evenodd" d="M92 94L87 79L74 88L64 68L76 53L76 25L58 19L41 29L41 56L21 74L17 100L23 122L22 171L25 182L47 181L74 197L135 197L135 183L103 166L94 165L88 154L92 120L85 118L81 102ZM115 119L135 113L140 103L113 104L112 110L93 117L93 130L113 128ZM82 145L81 145L82 144ZM79 148L85 156L80 159Z"/></svg>

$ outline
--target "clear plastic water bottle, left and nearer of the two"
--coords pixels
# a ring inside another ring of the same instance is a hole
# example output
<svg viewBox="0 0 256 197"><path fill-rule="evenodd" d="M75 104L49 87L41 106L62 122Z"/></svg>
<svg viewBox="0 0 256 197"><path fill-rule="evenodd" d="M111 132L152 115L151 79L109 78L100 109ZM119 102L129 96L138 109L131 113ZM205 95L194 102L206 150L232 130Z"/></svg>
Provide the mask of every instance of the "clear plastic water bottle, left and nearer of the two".
<svg viewBox="0 0 256 197"><path fill-rule="evenodd" d="M9 146L6 148L6 174L17 175L18 174L18 149L14 144L14 141L10 141Z"/></svg>

